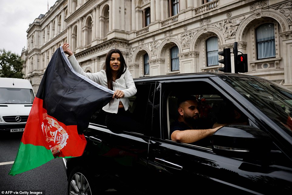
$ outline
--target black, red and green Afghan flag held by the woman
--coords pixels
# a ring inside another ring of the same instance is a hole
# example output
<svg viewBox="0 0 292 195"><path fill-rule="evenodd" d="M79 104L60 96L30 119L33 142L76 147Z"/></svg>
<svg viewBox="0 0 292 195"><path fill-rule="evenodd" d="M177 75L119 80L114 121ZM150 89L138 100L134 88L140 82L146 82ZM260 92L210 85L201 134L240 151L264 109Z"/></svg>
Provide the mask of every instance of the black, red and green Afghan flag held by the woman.
<svg viewBox="0 0 292 195"><path fill-rule="evenodd" d="M54 158L81 156L87 143L83 130L91 115L110 102L113 93L76 73L60 46L39 85L9 175Z"/></svg>

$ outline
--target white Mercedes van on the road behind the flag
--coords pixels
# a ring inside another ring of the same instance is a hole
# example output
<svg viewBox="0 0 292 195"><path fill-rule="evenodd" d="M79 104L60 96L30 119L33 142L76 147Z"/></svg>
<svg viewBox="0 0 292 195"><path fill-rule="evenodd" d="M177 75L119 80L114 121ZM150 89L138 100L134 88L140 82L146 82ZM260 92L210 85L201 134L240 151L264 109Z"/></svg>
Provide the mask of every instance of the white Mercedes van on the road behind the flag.
<svg viewBox="0 0 292 195"><path fill-rule="evenodd" d="M0 131L23 132L34 98L28 80L0 78Z"/></svg>

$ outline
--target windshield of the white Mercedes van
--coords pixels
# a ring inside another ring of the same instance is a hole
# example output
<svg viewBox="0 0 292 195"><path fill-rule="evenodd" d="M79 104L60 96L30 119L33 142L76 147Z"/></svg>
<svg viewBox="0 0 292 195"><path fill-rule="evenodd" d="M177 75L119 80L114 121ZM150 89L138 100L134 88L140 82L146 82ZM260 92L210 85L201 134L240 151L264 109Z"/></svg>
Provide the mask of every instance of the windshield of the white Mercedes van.
<svg viewBox="0 0 292 195"><path fill-rule="evenodd" d="M0 87L0 104L32 104L33 99L32 89Z"/></svg>

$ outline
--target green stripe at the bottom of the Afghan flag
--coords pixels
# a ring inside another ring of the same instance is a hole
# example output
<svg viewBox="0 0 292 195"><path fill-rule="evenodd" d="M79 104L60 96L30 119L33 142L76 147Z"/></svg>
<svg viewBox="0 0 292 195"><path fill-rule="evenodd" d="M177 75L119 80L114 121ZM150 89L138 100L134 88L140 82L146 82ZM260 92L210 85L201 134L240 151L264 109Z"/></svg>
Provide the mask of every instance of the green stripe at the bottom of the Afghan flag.
<svg viewBox="0 0 292 195"><path fill-rule="evenodd" d="M16 174L41 166L53 158L51 150L46 149L44 146L20 142L18 154L8 174L15 176Z"/></svg>

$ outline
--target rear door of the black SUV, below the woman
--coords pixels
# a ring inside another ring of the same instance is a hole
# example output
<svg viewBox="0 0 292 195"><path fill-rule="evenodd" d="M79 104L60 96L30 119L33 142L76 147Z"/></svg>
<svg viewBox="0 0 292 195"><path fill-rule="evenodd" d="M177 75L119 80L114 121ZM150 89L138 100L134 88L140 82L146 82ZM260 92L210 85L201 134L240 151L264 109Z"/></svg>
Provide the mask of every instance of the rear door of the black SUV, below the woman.
<svg viewBox="0 0 292 195"><path fill-rule="evenodd" d="M104 124L106 113L102 110L93 115L87 129L86 152L90 156L90 167L93 170L99 164L102 167L99 174L108 179L105 185L115 183L113 189L139 190L144 185L152 122L151 86L151 83L136 83L137 93L129 98L131 116L144 126L143 131L137 128L137 132L128 129L111 132Z"/></svg>

